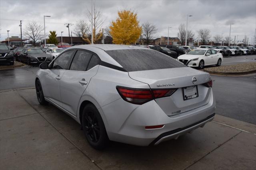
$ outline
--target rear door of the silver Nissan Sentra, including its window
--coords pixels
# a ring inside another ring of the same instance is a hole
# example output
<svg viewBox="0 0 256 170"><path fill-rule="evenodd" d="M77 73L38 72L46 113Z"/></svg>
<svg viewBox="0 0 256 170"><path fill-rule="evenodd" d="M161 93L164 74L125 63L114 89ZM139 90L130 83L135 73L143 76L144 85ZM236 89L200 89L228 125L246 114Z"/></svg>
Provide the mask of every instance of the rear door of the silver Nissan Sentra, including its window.
<svg viewBox="0 0 256 170"><path fill-rule="evenodd" d="M60 96L63 108L76 116L78 104L91 78L98 71L100 59L88 51L78 50L60 80Z"/></svg>

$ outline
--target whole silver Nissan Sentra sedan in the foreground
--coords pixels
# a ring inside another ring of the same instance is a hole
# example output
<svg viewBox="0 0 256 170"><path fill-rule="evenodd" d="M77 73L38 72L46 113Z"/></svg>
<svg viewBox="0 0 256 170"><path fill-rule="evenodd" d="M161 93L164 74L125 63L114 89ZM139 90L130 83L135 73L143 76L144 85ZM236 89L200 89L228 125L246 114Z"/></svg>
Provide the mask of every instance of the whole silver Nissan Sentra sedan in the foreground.
<svg viewBox="0 0 256 170"><path fill-rule="evenodd" d="M214 118L212 80L149 48L70 47L40 64L36 95L82 125L88 143L148 146L177 139Z"/></svg>

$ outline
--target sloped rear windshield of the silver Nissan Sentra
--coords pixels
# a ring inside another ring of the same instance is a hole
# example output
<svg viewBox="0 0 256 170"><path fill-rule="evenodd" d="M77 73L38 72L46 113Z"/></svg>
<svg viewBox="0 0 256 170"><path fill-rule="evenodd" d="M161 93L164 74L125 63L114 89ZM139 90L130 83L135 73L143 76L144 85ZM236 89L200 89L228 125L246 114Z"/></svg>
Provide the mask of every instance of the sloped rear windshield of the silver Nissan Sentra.
<svg viewBox="0 0 256 170"><path fill-rule="evenodd" d="M105 52L128 72L186 67L172 57L155 50L125 49Z"/></svg>

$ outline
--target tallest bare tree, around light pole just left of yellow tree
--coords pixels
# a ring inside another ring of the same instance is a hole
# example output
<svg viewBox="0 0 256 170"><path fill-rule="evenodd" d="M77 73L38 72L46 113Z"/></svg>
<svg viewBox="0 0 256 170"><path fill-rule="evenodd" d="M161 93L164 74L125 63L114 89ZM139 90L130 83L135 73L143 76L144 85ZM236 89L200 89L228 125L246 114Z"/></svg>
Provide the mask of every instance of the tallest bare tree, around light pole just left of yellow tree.
<svg viewBox="0 0 256 170"><path fill-rule="evenodd" d="M93 4L92 12L88 8L87 8L87 12L88 12L87 14L88 20L90 21L90 23L92 22L94 42L98 43L98 41L102 38L102 32L100 27L104 23L106 18L105 19L102 18L101 9L98 8L95 4ZM88 30L88 35L92 35L92 31L90 29ZM89 37L88 35L87 35L87 38L84 40L91 43L91 37Z"/></svg>

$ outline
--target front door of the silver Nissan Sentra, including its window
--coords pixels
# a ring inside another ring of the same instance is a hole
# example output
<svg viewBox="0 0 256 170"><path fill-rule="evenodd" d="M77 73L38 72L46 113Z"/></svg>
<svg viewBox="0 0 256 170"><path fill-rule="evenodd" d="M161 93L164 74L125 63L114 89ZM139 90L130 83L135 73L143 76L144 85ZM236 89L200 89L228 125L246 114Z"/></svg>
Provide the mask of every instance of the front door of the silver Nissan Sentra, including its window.
<svg viewBox="0 0 256 170"><path fill-rule="evenodd" d="M44 82L44 95L58 106L62 106L60 98L60 80L68 68L73 54L74 50L62 53L62 55L50 64L52 68L47 70L48 74L46 74Z"/></svg>

